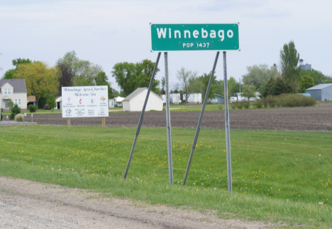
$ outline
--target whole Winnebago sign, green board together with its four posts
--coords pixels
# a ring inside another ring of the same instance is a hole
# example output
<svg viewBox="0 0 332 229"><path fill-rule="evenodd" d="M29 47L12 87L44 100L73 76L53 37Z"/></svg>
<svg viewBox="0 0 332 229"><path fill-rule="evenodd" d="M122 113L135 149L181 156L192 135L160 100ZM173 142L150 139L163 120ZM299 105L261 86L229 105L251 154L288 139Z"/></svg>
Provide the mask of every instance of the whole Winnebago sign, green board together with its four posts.
<svg viewBox="0 0 332 229"><path fill-rule="evenodd" d="M168 175L169 182L173 184L173 168L172 168L172 136L170 123L170 93L169 93L169 77L168 77L168 57L167 51L218 51L214 61L214 67L211 71L209 85L206 88L206 95L204 98L201 115L197 124L196 134L192 143L192 152L190 154L187 170L184 175L183 185L187 181L187 175L192 163L194 149L196 148L199 130L201 129L201 119L204 114L205 105L209 98L211 83L214 78L216 64L218 61L219 51L223 50L223 74L225 87L225 126L226 126L226 150L227 150L227 171L228 171L228 191L232 192L232 176L231 176L231 143L229 134L229 119L228 119L228 95L227 95L227 70L226 70L226 52L224 50L240 51L239 45L239 23L233 24L153 24L150 23L150 37L151 37L151 52L159 52L153 76L151 77L148 93L145 98L142 113L129 155L126 172L123 178L127 177L131 158L135 148L135 143L138 139L140 127L143 122L143 115L145 107L148 102L148 97L155 77L155 71L160 59L160 53L164 52L165 57L165 83L166 83L166 127L167 127L167 155L168 155Z"/></svg>

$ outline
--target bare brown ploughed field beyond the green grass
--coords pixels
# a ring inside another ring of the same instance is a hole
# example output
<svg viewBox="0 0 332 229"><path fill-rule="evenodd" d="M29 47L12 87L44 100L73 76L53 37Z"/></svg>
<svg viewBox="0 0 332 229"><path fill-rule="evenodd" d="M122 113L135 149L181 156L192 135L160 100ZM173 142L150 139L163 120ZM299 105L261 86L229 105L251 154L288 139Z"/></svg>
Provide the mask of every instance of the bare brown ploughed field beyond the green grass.
<svg viewBox="0 0 332 229"><path fill-rule="evenodd" d="M200 111L171 112L172 127L197 127ZM230 110L231 129L273 129L332 131L332 103L320 103L319 107ZM137 127L140 112L110 112L106 117L108 127ZM201 128L225 128L225 112L204 112ZM31 117L26 117L31 122ZM35 115L38 124L67 125L61 114ZM72 118L73 126L101 126L101 118ZM142 127L166 127L165 112L145 112Z"/></svg>

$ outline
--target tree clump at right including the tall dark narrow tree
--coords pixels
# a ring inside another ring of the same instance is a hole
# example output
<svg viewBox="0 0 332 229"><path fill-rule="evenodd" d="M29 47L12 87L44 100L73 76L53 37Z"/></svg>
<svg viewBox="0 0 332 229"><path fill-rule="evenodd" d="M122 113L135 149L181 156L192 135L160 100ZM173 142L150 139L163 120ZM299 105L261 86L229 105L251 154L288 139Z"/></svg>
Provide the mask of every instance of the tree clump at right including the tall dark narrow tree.
<svg viewBox="0 0 332 229"><path fill-rule="evenodd" d="M332 78L315 69L304 70L299 66L299 52L294 42L284 44L280 50L280 65L259 64L247 67L243 76L243 92L252 94L260 92L262 98L283 93L305 93L320 83L332 83Z"/></svg>

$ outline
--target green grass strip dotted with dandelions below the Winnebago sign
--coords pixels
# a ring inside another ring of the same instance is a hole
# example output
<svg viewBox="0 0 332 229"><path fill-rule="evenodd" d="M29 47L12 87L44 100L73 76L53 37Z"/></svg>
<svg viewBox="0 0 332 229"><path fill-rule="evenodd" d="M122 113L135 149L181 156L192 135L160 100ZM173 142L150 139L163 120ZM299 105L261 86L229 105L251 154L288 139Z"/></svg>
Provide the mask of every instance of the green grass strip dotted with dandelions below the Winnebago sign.
<svg viewBox="0 0 332 229"><path fill-rule="evenodd" d="M330 132L231 130L233 194L229 194L223 129L201 129L182 187L194 131L172 129L172 186L165 128L140 130L123 180L135 129L2 127L0 175L150 204L214 209L223 218L332 226Z"/></svg>

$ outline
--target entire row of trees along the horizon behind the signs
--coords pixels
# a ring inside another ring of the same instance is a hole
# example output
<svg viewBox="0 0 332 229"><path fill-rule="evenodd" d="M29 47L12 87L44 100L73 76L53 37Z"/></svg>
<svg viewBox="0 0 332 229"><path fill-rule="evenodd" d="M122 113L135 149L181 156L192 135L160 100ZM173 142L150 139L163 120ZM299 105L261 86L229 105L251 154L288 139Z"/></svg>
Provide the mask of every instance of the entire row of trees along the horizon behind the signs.
<svg viewBox="0 0 332 229"><path fill-rule="evenodd" d="M280 50L280 64L268 66L258 64L248 66L248 73L240 81L230 77L228 79L228 96L234 93L243 93L245 97L255 97L255 92L260 92L262 97L280 95L282 93L305 93L305 89L319 83L332 83L332 78L325 76L315 69L304 70L299 66L299 53L294 42L284 44ZM41 108L46 100L61 95L61 88L68 86L108 86L109 98L116 96L126 97L135 89L148 87L153 74L155 62L148 59L137 63L120 62L113 66L111 76L121 88L118 92L111 88L109 78L98 64L82 60L76 52L67 52L64 57L57 60L55 66L48 66L42 61L30 59L13 59L13 69L5 72L3 78L25 78L28 95L35 95L36 105ZM160 71L157 69L156 74ZM197 71L182 67L177 71L178 82L170 86L171 93L180 93L181 99L186 101L191 93L206 94L211 73L200 76ZM223 96L223 80L212 79L209 98L215 94ZM165 94L165 77L160 81L155 79L152 86L153 92L158 95ZM182 97L183 95L184 98Z"/></svg>

